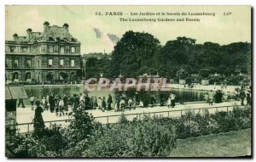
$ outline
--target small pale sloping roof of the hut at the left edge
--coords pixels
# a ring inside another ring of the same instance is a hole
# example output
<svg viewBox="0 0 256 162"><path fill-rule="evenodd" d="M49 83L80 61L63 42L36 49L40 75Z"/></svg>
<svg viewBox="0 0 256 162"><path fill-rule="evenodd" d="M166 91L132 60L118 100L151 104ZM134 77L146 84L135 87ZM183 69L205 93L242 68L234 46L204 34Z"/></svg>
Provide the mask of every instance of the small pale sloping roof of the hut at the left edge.
<svg viewBox="0 0 256 162"><path fill-rule="evenodd" d="M28 98L25 88L21 86L5 87L5 99L25 99Z"/></svg>

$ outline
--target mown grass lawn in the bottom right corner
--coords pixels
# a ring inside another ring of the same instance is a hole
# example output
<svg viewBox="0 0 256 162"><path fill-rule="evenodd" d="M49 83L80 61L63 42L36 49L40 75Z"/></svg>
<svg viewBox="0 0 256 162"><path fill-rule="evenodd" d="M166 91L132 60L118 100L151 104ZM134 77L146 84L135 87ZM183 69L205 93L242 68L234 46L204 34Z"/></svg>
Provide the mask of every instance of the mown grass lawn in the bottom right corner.
<svg viewBox="0 0 256 162"><path fill-rule="evenodd" d="M237 157L251 155L251 129L177 141L171 157Z"/></svg>

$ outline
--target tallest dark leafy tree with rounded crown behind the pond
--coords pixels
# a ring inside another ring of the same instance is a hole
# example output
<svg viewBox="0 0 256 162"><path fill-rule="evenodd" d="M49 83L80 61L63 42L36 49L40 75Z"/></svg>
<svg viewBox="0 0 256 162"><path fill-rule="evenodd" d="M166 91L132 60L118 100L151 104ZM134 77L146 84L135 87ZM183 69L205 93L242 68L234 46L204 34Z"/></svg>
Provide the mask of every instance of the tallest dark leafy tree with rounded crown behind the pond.
<svg viewBox="0 0 256 162"><path fill-rule="evenodd" d="M160 53L160 42L144 32L127 31L113 50L112 75L136 77L136 71L144 67L155 67ZM147 71L145 71L147 72Z"/></svg>

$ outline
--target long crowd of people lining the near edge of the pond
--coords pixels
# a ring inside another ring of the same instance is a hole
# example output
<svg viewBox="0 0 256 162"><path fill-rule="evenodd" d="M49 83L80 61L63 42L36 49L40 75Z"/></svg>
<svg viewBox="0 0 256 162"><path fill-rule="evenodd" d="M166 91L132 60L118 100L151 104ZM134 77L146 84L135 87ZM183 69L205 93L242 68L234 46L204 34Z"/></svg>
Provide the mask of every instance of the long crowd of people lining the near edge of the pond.
<svg viewBox="0 0 256 162"><path fill-rule="evenodd" d="M160 94L160 106L167 106L168 108L175 107L176 95L171 93L168 99L162 93ZM114 111L124 111L125 109L136 109L148 108L156 106L157 98L154 94L150 95L150 98L141 98L138 93L135 92L131 97L127 97L125 92L115 95L115 103L113 103L113 97L108 94L108 98L89 96L88 93L80 93L79 95L73 94L73 96L67 96L61 94L54 94L53 92L44 94L41 99L35 98L33 95L30 98L30 103L32 105L32 110L34 109L34 104L36 102L40 103L43 110L49 110L51 113L56 115L72 115L71 112L76 112L77 109L100 109L114 110ZM22 102L23 104L23 102Z"/></svg>

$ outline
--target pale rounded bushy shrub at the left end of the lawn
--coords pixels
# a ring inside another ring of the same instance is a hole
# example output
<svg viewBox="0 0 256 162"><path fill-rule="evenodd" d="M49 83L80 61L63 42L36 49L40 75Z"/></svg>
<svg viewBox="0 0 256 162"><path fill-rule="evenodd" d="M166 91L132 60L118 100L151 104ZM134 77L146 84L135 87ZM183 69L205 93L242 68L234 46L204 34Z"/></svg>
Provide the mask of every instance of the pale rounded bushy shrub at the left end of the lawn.
<svg viewBox="0 0 256 162"><path fill-rule="evenodd" d="M174 126L161 126L154 120L138 125L127 138L130 156L166 156L177 147Z"/></svg>

